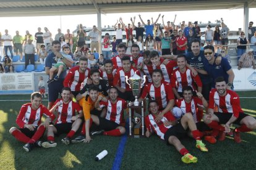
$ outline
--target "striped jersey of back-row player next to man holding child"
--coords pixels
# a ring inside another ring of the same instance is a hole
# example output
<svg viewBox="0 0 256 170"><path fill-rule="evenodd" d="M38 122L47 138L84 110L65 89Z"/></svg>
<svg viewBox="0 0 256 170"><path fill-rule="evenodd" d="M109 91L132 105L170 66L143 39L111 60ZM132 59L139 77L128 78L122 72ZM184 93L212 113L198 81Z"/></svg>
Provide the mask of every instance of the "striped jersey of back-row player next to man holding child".
<svg viewBox="0 0 256 170"><path fill-rule="evenodd" d="M79 72L79 66L73 67L67 73L66 78L64 79L64 87L70 87L71 91L80 91L81 83L87 77L90 77L90 69L87 68L85 73Z"/></svg>

